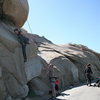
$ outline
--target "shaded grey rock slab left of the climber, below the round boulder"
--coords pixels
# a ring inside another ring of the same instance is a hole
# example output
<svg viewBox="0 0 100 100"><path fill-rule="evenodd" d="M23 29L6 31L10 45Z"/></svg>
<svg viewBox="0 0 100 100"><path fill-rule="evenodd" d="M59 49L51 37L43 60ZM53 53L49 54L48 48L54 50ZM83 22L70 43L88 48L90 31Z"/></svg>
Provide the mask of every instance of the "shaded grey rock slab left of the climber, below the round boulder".
<svg viewBox="0 0 100 100"><path fill-rule="evenodd" d="M1 87L0 89L0 93L2 92L2 94L0 95L0 100L4 100L4 98L7 96L11 96L12 98L23 98L27 96L28 93L21 46L18 43L16 36L6 30L6 27L8 26L1 22L0 85L3 85L3 87ZM31 48L35 49L32 49L33 51L30 52ZM34 56L37 54L37 47L34 42L31 43L30 46L27 46L27 52L30 52L30 54L28 54L28 59L30 56L34 58ZM9 95L6 90L9 92Z"/></svg>

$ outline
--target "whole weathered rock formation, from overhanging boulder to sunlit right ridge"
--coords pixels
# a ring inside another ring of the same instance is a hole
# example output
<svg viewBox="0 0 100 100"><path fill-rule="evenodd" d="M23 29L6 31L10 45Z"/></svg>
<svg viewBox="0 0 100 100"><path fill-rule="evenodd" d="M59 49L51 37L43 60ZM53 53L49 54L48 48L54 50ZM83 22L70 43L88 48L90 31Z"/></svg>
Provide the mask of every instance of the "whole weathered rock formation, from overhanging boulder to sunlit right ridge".
<svg viewBox="0 0 100 100"><path fill-rule="evenodd" d="M27 1L20 2L28 13ZM2 0L0 7L3 7L0 14L2 11L4 13L3 20L0 19L0 100L23 100L29 97L30 92L34 93L31 96L47 96L50 90L46 70L48 63L60 70L55 69L55 76L60 79L60 89L85 82L87 63L92 64L93 79L100 76L99 53L83 45L55 45L45 37L28 34L25 30L23 35L32 42L27 45L28 61L24 63L21 45L13 30L24 24L27 14L24 16L22 13L18 0Z"/></svg>

